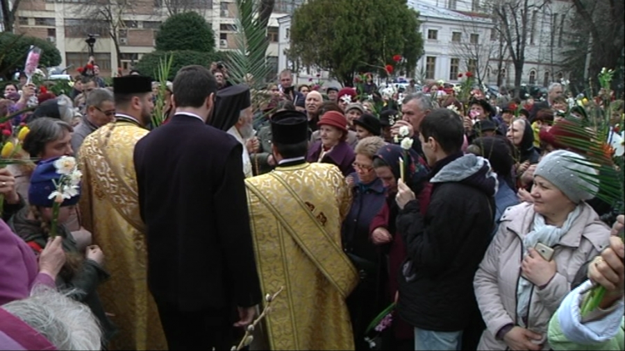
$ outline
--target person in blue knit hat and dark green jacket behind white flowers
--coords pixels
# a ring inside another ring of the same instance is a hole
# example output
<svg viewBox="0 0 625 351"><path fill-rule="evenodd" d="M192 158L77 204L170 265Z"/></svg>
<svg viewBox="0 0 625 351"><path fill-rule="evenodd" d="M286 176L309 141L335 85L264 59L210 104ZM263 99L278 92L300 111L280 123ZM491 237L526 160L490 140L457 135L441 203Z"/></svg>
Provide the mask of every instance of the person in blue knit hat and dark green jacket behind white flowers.
<svg viewBox="0 0 625 351"><path fill-rule="evenodd" d="M80 178L81 173L76 170L74 157L63 156L41 161L33 171L28 188L30 206L17 212L9 225L35 251L35 255L40 255L52 230L63 237L63 250L67 259L56 277L56 286L74 291L70 296L91 308L99 319L104 340L108 341L115 334L116 328L106 316L96 290L99 283L108 278L108 273L103 269L104 254L98 246L89 246L85 252L78 250L72 233L61 224L69 219L80 199ZM55 193L56 196L53 196ZM52 228L53 205L58 200L62 201L58 209L58 224Z"/></svg>

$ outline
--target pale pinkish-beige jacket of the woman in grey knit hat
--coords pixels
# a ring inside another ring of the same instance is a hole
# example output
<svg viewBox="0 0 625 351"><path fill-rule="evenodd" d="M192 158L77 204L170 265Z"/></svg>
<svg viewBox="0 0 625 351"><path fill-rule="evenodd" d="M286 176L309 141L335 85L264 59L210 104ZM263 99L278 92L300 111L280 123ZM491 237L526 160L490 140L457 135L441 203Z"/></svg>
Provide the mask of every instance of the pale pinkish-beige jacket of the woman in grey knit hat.
<svg viewBox="0 0 625 351"><path fill-rule="evenodd" d="M608 246L608 226L599 221L592 207L586 203L581 206L581 213L571 230L553 247L556 275L544 289L535 286L531 296L527 327L544 336L544 350L549 350L549 319L571 290L571 282L579 268ZM506 343L495 339L495 335L509 323L519 325L517 281L523 258L523 238L531 231L534 213L533 205L528 203L506 209L499 230L475 274L475 295L487 327L478 350L506 350Z"/></svg>

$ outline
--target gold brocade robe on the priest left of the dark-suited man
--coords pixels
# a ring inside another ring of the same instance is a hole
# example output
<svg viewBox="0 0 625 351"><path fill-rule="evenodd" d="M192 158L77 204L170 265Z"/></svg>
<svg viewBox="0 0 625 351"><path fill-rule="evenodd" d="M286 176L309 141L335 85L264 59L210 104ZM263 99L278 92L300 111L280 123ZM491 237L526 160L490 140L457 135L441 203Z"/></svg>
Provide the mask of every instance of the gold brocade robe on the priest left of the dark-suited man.
<svg viewBox="0 0 625 351"><path fill-rule="evenodd" d="M117 121L89 135L80 153L81 215L106 257L110 279L99 287L119 328L111 350L166 350L158 309L147 286L147 250L139 214L133 151L148 130Z"/></svg>

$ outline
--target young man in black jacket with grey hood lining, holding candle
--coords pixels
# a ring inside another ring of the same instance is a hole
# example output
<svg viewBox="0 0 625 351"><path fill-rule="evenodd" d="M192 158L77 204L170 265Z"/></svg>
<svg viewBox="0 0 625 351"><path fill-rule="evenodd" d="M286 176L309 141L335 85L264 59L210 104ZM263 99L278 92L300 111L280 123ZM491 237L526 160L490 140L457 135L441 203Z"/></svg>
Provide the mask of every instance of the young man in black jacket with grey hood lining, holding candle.
<svg viewBox="0 0 625 351"><path fill-rule="evenodd" d="M397 229L407 259L397 311L415 327L415 350L460 350L463 331L479 316L473 276L490 241L497 176L487 160L462 155L456 112L433 110L419 131L433 187L423 215L415 195L399 183Z"/></svg>

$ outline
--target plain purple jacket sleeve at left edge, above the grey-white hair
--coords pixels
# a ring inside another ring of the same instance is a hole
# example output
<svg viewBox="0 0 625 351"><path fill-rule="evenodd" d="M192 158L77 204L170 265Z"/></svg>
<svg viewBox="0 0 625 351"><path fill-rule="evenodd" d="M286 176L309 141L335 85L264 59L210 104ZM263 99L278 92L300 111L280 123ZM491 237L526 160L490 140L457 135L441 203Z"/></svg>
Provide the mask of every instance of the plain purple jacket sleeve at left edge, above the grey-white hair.
<svg viewBox="0 0 625 351"><path fill-rule="evenodd" d="M27 298L36 284L56 289L52 277L38 271L33 249L0 219L0 305Z"/></svg>

